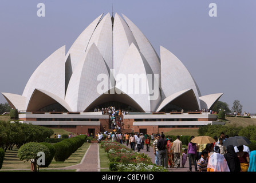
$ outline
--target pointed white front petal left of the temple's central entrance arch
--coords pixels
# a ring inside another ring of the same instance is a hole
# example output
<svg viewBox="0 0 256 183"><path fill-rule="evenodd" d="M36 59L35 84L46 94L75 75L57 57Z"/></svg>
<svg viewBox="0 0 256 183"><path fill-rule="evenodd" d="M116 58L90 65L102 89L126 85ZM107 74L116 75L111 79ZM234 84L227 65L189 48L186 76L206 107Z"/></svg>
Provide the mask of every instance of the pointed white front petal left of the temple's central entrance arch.
<svg viewBox="0 0 256 183"><path fill-rule="evenodd" d="M97 81L100 74L105 75L109 82L107 65L93 43L86 51L85 57L77 63L70 78L65 100L73 112L83 112L101 94L109 90L109 85L103 91L97 90L97 86L102 82L102 80Z"/></svg>

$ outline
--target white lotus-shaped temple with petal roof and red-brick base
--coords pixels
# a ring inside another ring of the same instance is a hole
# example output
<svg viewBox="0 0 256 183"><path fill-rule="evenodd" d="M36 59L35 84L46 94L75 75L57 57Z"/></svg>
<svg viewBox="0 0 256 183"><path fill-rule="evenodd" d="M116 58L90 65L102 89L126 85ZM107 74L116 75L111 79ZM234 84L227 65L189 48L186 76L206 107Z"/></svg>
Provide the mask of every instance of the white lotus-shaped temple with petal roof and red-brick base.
<svg viewBox="0 0 256 183"><path fill-rule="evenodd" d="M2 93L23 122L76 134L111 131L102 109L115 106L129 113L121 117L127 132L219 123L210 110L223 93L202 96L183 63L162 46L157 55L123 14L101 14L67 51L46 58L22 95Z"/></svg>

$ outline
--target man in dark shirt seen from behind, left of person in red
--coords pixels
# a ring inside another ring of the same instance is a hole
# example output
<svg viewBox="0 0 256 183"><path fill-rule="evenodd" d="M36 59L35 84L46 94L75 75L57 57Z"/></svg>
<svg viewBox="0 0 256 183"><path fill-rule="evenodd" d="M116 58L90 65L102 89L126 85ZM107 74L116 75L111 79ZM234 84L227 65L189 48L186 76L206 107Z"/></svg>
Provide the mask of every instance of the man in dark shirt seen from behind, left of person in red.
<svg viewBox="0 0 256 183"><path fill-rule="evenodd" d="M164 166L168 168L167 166L167 152L166 152L166 145L167 140L164 138L164 134L161 135L161 138L159 141L157 141L157 148L158 148L158 161L159 166Z"/></svg>

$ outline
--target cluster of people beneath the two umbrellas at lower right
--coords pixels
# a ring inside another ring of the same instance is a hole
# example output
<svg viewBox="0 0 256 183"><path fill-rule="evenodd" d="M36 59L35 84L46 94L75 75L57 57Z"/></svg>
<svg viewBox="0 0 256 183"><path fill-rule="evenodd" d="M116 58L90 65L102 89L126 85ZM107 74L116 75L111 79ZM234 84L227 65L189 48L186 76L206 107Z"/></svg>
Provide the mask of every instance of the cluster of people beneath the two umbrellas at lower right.
<svg viewBox="0 0 256 183"><path fill-rule="evenodd" d="M194 136L191 137L191 140ZM245 146L224 146L228 136L220 133L220 137L214 137L212 144L194 144L191 141L188 144L189 170L192 171L194 165L195 171L201 172L248 172L251 171L250 149Z"/></svg>

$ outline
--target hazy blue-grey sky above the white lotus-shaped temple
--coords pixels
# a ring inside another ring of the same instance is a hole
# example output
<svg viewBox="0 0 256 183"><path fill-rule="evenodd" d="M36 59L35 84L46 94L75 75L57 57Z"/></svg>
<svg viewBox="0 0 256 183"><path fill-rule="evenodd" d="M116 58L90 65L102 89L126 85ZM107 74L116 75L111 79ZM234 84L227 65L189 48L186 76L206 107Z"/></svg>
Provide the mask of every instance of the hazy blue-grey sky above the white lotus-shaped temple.
<svg viewBox="0 0 256 183"><path fill-rule="evenodd" d="M38 3L45 17L37 16ZM22 95L40 63L61 46L67 52L94 19L112 13L112 3L158 54L163 46L182 61L202 95L224 93L220 101L230 109L239 100L243 111L256 113L255 0L1 0L0 92ZM210 3L217 17L209 16Z"/></svg>

